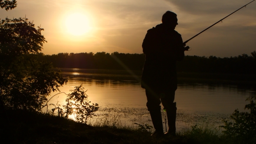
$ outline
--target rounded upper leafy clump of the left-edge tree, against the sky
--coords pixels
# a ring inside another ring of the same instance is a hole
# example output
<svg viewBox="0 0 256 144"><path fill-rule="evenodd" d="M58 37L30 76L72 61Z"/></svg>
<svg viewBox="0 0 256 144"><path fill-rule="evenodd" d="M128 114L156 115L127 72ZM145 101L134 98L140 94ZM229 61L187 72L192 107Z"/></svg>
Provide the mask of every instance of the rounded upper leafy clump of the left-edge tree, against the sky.
<svg viewBox="0 0 256 144"><path fill-rule="evenodd" d="M1 21L0 30L1 57L36 54L43 49L43 43L47 43L41 35L44 29L39 26L36 29L33 21L28 21L27 18L6 18Z"/></svg>

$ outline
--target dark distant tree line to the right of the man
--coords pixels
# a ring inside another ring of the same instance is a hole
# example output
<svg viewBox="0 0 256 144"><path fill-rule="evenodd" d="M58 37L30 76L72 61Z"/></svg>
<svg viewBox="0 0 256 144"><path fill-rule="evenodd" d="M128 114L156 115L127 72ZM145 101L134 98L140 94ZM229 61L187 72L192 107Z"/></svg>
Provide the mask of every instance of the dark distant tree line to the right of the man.
<svg viewBox="0 0 256 144"><path fill-rule="evenodd" d="M256 74L256 51L251 56L242 54L235 57L185 56L177 62L180 72L210 72L230 74Z"/></svg>

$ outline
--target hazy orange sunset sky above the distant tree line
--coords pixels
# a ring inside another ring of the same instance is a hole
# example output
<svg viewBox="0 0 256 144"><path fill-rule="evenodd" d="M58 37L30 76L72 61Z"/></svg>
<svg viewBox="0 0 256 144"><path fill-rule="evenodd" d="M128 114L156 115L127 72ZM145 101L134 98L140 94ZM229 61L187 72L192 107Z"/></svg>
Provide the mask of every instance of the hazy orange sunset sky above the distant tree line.
<svg viewBox="0 0 256 144"><path fill-rule="evenodd" d="M45 30L44 54L142 53L148 29L177 13L175 30L187 40L252 0L17 0L0 19L25 17ZM230 57L256 50L256 2L187 43L186 55Z"/></svg>

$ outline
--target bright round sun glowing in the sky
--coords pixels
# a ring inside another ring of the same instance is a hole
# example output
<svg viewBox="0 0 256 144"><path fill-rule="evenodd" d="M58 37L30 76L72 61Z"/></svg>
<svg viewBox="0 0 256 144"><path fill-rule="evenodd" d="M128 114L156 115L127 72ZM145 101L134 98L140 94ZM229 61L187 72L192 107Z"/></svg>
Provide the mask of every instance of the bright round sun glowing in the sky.
<svg viewBox="0 0 256 144"><path fill-rule="evenodd" d="M72 13L66 17L66 30L68 33L81 36L89 32L89 20L82 13Z"/></svg>

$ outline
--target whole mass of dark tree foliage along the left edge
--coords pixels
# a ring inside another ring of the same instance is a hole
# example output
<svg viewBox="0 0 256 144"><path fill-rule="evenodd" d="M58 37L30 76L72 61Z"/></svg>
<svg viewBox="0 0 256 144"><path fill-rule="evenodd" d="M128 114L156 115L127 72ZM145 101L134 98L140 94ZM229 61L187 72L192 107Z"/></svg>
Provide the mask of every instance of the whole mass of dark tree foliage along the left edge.
<svg viewBox="0 0 256 144"><path fill-rule="evenodd" d="M26 18L0 22L0 101L1 108L39 111L51 91L67 82L49 62L38 62L47 42Z"/></svg>

